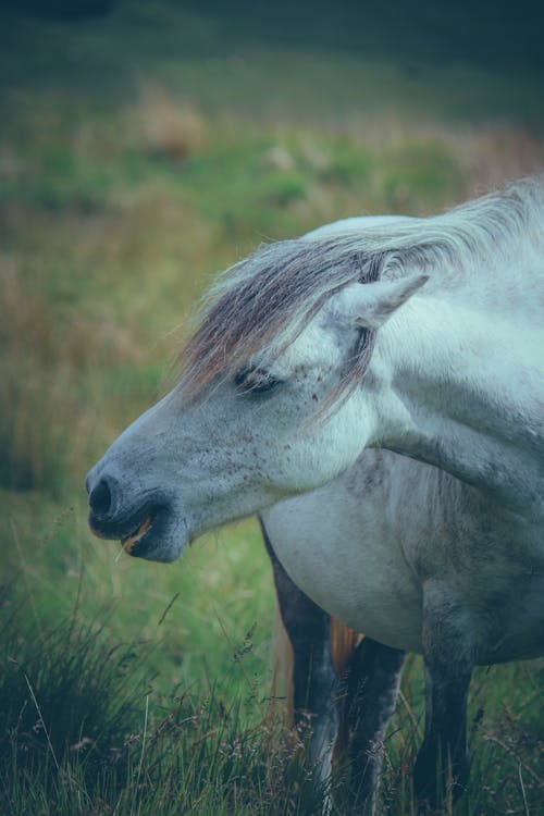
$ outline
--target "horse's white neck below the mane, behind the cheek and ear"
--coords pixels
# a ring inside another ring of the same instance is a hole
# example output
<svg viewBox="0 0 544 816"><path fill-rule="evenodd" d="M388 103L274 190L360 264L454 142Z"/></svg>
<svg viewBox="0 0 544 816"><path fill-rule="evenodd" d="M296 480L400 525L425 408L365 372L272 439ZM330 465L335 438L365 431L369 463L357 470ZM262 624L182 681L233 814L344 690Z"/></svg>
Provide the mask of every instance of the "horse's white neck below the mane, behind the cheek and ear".
<svg viewBox="0 0 544 816"><path fill-rule="evenodd" d="M390 379L379 444L541 512L542 332L475 300L423 295L391 321L376 348Z"/></svg>

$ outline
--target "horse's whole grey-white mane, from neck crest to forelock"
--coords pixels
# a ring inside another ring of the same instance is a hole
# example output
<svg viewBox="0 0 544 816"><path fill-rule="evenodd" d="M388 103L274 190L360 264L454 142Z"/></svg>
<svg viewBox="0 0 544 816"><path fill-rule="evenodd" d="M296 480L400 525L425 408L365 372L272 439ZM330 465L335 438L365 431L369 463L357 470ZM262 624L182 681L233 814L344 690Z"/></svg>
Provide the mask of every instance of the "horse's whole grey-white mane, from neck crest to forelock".
<svg viewBox="0 0 544 816"><path fill-rule="evenodd" d="M456 207L441 215L406 219L322 237L302 236L259 247L227 269L197 313L178 362L184 394L195 398L218 378L231 378L274 341L285 348L336 292L350 283L399 276L407 268L462 265L514 244L535 211L544 210L542 178ZM375 339L364 332L346 386L360 381Z"/></svg>

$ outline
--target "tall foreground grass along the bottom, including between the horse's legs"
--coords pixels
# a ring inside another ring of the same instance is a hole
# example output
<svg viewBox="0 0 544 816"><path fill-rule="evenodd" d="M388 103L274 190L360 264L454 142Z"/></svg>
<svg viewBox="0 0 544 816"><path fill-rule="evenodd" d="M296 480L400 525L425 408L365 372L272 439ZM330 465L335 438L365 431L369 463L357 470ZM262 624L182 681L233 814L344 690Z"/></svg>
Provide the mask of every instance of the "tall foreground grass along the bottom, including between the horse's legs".
<svg viewBox="0 0 544 816"><path fill-rule="evenodd" d="M305 766L299 750L304 731L285 740L277 712L255 696L251 683L246 701L225 694L221 681L206 691L178 685L164 695L149 671L150 644L112 645L106 626L111 610L89 623L82 621L76 606L61 623L37 630L28 603L13 590L3 590L1 605L2 813L321 812L326 791ZM238 660L248 646L246 640ZM385 743L383 814L415 813L409 768L421 737L421 692L412 688L421 681L418 663L408 662ZM477 673L470 715L472 781L462 805L446 802L441 813L539 813L543 670L541 663L536 670L520 665L495 671L491 679ZM517 689L515 697L511 688ZM507 696L500 698L503 694ZM361 813L360 805L349 804L344 776L338 767L332 780L335 807Z"/></svg>

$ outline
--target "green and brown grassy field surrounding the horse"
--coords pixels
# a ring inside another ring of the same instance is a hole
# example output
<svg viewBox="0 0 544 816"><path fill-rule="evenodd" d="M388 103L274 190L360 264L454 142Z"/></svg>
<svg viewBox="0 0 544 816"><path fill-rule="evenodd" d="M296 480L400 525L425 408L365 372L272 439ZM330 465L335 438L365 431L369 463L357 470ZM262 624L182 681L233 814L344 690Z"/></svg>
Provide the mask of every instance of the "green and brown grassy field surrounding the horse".
<svg viewBox="0 0 544 816"><path fill-rule="evenodd" d="M0 812L319 813L265 717L274 598L256 523L139 562L92 539L83 479L168 388L214 271L263 239L432 212L542 169L542 76L366 58L329 47L324 23L304 47L281 26L259 39L255 21L235 32L165 1L2 23ZM477 672L459 813L540 812L543 679L542 660ZM421 729L410 658L383 813L411 813Z"/></svg>

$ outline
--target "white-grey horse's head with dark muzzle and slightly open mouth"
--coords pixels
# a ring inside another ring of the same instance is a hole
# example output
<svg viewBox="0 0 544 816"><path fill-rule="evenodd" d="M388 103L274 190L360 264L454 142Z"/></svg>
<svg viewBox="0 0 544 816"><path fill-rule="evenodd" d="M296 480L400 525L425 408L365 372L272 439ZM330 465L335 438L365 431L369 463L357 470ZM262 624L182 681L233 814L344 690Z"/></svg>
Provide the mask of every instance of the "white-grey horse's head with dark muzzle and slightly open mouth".
<svg viewBox="0 0 544 816"><path fill-rule="evenodd" d="M373 337L425 280L331 287L318 307L300 310L302 323L285 322L257 349L251 320L258 310L246 325L238 316L233 333L220 297L205 316L209 325L189 344L181 383L87 475L91 529L121 539L131 555L170 561L203 531L313 490L348 468L376 441L387 379L380 359L369 367L361 338ZM223 348L210 343L221 336ZM369 369L363 387L361 360Z"/></svg>

